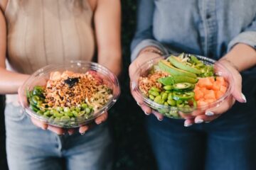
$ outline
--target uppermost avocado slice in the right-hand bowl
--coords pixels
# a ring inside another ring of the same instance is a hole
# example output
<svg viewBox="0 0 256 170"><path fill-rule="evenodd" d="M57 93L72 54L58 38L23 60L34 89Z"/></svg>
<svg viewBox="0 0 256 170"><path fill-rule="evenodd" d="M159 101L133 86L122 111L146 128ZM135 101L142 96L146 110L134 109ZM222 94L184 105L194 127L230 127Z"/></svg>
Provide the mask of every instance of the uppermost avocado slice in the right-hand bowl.
<svg viewBox="0 0 256 170"><path fill-rule="evenodd" d="M201 71L199 69L186 65L184 62L179 61L178 57L175 57L174 55L171 55L170 57L168 57L168 60L169 62L171 62L171 64L173 64L178 69L183 69L187 72L191 72L195 74L201 74Z"/></svg>

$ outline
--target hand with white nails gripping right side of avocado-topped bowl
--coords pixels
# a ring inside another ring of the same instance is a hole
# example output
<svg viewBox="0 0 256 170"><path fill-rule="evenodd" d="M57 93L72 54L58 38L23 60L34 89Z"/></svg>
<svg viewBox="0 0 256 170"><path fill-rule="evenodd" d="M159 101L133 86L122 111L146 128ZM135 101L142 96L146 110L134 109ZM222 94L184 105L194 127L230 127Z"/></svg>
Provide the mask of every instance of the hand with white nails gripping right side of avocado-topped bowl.
<svg viewBox="0 0 256 170"><path fill-rule="evenodd" d="M196 116L185 120L184 125L186 127L193 125L193 123L203 123L203 122L208 123L212 120L215 120L220 115L228 111L233 106L235 101L238 101L240 103L246 103L246 98L242 94L242 77L238 72L238 69L236 69L236 67L232 62L230 62L229 60L226 60L225 58L219 60L218 62L223 64L224 67L230 71L230 74L233 75L234 89L232 91L232 94L230 94L230 96L226 98L225 101L223 101L223 103L220 104L220 106L210 108L205 113L196 113L197 111L195 111L194 115Z"/></svg>

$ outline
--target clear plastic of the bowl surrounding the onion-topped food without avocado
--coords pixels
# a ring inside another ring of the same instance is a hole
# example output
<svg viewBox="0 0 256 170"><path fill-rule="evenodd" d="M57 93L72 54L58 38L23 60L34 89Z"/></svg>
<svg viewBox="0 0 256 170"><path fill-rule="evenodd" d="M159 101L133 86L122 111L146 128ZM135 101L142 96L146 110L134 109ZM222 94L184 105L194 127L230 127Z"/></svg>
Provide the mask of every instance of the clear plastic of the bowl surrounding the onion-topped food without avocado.
<svg viewBox="0 0 256 170"><path fill-rule="evenodd" d="M95 111L92 117L89 119L83 118L83 117L76 117L75 120L70 120L68 122L62 121L62 120L49 121L48 120L49 118L43 117L42 115L31 110L28 104L28 98L26 97L26 91L27 90L31 91L33 87L37 85L46 86L46 81L50 78L50 72L56 72L56 71L65 72L67 70L75 73L85 73L90 70L97 72L97 75L102 77L105 83L107 84L107 86L110 89L112 89L112 98L110 99L110 101L108 101L105 104L105 106ZM58 65L51 64L41 69L38 69L21 86L20 95L21 95L21 106L23 107L23 110L27 113L28 116L41 120L48 125L53 125L59 128L77 128L77 127L80 127L81 125L86 125L87 123L90 123L92 120L102 115L102 113L105 113L106 111L108 111L114 105L114 103L116 103L117 98L119 97L119 94L120 94L119 81L117 77L112 72L110 72L109 69L95 62L71 61L65 64L58 64Z"/></svg>

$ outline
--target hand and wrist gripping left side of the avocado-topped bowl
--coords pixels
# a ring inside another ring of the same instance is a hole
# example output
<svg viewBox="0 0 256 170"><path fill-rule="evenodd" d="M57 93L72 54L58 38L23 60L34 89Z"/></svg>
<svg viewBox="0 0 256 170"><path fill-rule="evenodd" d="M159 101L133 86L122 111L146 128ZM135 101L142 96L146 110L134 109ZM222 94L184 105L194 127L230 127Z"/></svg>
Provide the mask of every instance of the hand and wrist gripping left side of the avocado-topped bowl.
<svg viewBox="0 0 256 170"><path fill-rule="evenodd" d="M159 57L159 56L160 55L155 52L146 52L146 51L140 52L140 54L138 55L136 60L134 60L134 62L132 62L132 64L130 64L130 66L129 66L130 82L134 81L134 73L137 71L137 69L139 69L139 67L142 66L142 64L144 62L146 62L147 60L154 59L155 57ZM135 101L137 101L137 104L142 108L142 110L144 111L144 113L146 115L153 113L158 120L160 120L160 121L163 120L164 116L161 115L160 113L157 113L156 111L152 111L152 109L149 108L149 106L146 106L143 103L142 98L137 96L137 94L134 92L134 90L132 89L132 86L131 86L131 93L132 93L132 96L135 99Z"/></svg>

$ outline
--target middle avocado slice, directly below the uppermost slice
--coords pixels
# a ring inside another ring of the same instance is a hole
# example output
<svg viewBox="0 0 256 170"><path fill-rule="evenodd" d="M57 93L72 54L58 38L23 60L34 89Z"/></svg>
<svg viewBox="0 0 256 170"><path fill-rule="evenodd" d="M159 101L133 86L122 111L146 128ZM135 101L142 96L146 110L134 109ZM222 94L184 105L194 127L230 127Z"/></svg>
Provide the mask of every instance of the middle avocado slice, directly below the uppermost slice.
<svg viewBox="0 0 256 170"><path fill-rule="evenodd" d="M186 72L186 71L184 71L182 69L177 69L176 67L172 66L166 60L160 60L159 68L161 70L163 70L164 72L169 72L173 76L183 76L183 77L193 77L193 78L196 78L196 74L193 74L191 72Z"/></svg>

